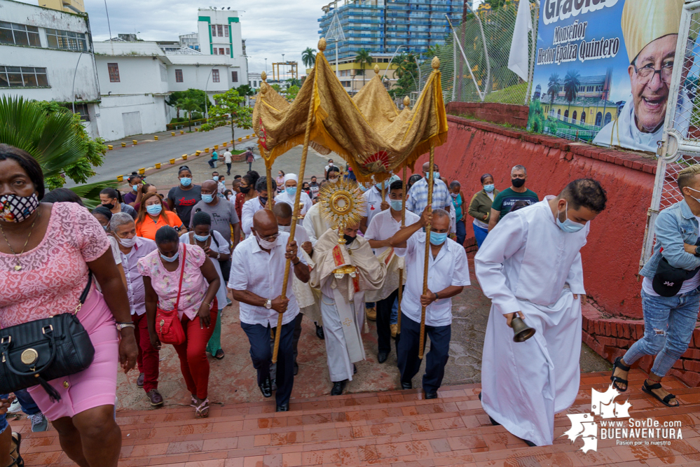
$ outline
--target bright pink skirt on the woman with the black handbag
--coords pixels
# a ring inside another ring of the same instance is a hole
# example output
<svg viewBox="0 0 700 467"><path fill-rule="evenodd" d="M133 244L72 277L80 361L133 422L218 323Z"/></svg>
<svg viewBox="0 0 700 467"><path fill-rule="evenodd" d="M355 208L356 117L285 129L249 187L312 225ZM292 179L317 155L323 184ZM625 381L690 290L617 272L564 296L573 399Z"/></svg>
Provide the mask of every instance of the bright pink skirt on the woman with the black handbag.
<svg viewBox="0 0 700 467"><path fill-rule="evenodd" d="M102 293L93 288L78 312L78 319L90 334L95 359L87 370L49 382L61 395L52 402L41 386L29 388L36 405L47 419L54 421L100 405L114 405L119 364L119 337Z"/></svg>

